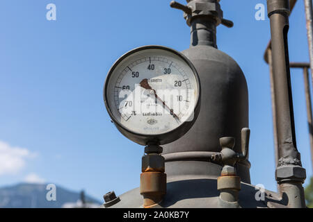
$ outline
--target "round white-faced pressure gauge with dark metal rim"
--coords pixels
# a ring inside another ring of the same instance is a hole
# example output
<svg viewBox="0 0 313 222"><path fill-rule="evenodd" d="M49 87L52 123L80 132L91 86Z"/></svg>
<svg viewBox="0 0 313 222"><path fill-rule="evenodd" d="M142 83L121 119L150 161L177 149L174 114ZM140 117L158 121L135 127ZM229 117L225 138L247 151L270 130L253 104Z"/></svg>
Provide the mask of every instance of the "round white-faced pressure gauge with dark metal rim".
<svg viewBox="0 0 313 222"><path fill-rule="evenodd" d="M120 132L146 145L182 137L200 111L200 80L193 64L178 51L143 46L111 67L104 103Z"/></svg>

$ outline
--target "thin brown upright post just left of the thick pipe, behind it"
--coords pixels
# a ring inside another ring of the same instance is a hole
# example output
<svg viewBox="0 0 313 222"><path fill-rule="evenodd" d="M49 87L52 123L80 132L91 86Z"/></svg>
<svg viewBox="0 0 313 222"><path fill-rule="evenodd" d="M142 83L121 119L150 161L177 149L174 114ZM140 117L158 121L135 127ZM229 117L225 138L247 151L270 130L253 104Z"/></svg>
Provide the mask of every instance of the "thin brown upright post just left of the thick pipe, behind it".
<svg viewBox="0 0 313 222"><path fill-rule="evenodd" d="M277 138L277 126L276 126L276 113L275 113L275 94L274 94L274 76L273 76L273 62L272 62L272 49L267 50L268 66L270 69L270 83L271 83L271 101L272 101L272 114L273 114L273 135L274 135L274 149L275 149L275 164L278 166L278 138Z"/></svg>

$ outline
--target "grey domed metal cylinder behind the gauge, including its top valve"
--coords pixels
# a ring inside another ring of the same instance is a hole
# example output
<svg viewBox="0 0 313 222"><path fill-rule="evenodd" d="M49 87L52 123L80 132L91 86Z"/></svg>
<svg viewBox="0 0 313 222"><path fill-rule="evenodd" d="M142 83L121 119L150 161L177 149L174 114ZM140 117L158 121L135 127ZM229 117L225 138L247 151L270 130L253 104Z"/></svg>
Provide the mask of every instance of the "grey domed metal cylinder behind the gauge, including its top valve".
<svg viewBox="0 0 313 222"><path fill-rule="evenodd" d="M163 146L166 173L177 175L220 174L220 166L209 162L209 156L220 152L220 137L235 137L234 150L240 151L241 129L248 127L248 88L243 71L216 46L216 26L222 23L223 11L216 0L188 1L184 10L191 27L191 44L182 53L193 62L202 86L202 107L191 130L171 144ZM227 21L229 26L231 22ZM239 164L241 180L250 183L250 163Z"/></svg>

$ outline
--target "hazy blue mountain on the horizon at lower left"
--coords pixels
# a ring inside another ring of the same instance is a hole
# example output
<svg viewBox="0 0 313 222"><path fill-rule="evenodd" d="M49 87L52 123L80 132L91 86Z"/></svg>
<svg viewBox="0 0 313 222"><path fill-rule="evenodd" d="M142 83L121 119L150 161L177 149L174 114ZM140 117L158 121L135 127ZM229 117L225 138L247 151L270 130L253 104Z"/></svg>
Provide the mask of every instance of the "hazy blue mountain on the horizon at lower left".
<svg viewBox="0 0 313 222"><path fill-rule="evenodd" d="M47 200L47 184L20 183L0 188L0 208L99 207L102 203L83 193L56 186L56 200ZM83 195L82 195L83 194ZM83 196L83 197L82 197ZM81 198L85 201L82 204Z"/></svg>

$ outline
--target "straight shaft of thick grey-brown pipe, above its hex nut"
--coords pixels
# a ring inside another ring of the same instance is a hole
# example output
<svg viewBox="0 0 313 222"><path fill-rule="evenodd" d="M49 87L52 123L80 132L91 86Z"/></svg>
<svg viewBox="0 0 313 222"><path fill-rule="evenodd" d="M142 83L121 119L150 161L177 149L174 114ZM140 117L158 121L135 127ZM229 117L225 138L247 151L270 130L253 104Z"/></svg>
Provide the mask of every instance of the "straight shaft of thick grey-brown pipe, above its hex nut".
<svg viewBox="0 0 313 222"><path fill-rule="evenodd" d="M287 45L289 1L268 0L268 9L271 20L275 116L278 129L280 162L300 162L299 153L296 149Z"/></svg>

